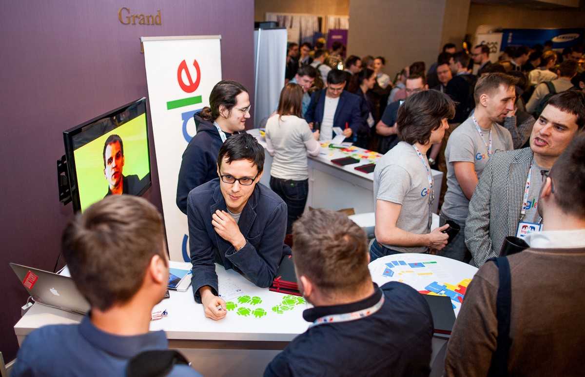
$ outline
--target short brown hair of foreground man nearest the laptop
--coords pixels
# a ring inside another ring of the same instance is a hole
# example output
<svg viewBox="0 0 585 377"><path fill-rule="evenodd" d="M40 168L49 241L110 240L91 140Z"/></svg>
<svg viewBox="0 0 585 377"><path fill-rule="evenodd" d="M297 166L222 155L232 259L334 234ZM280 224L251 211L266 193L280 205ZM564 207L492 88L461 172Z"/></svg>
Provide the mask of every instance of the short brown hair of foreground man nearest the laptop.
<svg viewBox="0 0 585 377"><path fill-rule="evenodd" d="M61 245L75 286L102 311L138 292L154 255L167 261L159 211L130 195L92 204L69 222Z"/></svg>

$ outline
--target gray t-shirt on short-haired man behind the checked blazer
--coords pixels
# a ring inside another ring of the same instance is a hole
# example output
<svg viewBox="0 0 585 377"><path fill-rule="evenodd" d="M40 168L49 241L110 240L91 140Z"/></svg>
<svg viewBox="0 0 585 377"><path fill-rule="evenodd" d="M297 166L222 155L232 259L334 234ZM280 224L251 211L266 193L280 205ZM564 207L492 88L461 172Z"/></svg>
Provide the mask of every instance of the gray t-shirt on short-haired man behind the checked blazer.
<svg viewBox="0 0 585 377"><path fill-rule="evenodd" d="M463 193L461 186L459 186L453 163L473 162L477 178L479 179L489 159L486 146L490 145L490 132L483 131L482 133L484 138L477 132L473 119L470 116L451 133L447 147L445 148L447 191L441 213L460 224L464 224L467 219L469 200ZM514 149L514 142L512 142L510 131L494 123L491 126L492 153L512 149Z"/></svg>

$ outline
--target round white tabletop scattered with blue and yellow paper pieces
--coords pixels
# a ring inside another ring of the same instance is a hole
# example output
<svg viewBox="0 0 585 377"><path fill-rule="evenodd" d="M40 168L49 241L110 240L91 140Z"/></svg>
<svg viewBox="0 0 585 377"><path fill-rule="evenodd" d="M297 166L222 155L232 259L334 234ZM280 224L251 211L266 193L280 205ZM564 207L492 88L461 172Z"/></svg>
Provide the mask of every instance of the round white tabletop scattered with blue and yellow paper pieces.
<svg viewBox="0 0 585 377"><path fill-rule="evenodd" d="M455 317L477 268L443 256L401 253L387 255L368 266L378 286L402 282L424 294L451 297Z"/></svg>

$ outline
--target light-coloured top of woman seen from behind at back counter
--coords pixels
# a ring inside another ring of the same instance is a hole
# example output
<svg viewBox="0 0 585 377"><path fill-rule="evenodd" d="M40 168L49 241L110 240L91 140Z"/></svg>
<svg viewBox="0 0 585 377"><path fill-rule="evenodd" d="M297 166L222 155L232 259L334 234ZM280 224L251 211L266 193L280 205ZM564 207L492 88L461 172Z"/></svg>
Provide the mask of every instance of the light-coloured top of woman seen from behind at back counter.
<svg viewBox="0 0 585 377"><path fill-rule="evenodd" d="M313 138L307 121L295 115L275 114L266 122L266 138L274 148L270 175L280 179L302 181L308 179L307 147Z"/></svg>

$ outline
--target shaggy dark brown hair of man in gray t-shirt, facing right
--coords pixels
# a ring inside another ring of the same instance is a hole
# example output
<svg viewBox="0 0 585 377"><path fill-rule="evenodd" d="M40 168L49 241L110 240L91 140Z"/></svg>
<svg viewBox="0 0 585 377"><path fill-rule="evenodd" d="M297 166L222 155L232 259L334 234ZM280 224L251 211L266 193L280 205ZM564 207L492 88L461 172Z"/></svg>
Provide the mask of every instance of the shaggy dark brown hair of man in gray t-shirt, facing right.
<svg viewBox="0 0 585 377"><path fill-rule="evenodd" d="M455 116L453 100L442 92L425 90L408 97L398 108L398 138L409 144L424 144L431 131L441 126L442 119Z"/></svg>

